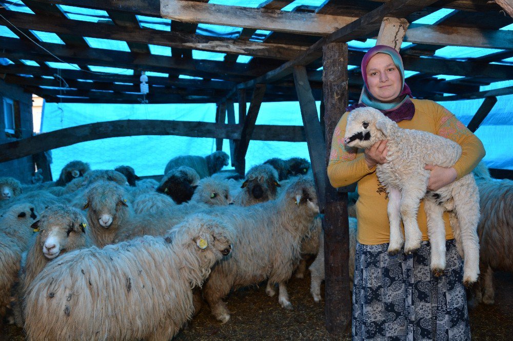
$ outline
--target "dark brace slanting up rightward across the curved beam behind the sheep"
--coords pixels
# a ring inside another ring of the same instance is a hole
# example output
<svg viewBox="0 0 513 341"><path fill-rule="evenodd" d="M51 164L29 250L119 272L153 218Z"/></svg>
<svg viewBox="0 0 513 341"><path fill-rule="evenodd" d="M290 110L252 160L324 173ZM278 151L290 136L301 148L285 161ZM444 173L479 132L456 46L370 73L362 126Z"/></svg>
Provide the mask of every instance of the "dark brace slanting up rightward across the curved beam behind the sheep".
<svg viewBox="0 0 513 341"><path fill-rule="evenodd" d="M253 134L255 122L260 111L260 105L264 98L265 84L257 84L253 90L253 97L249 104L248 114L242 123L241 138L235 142L235 171L240 175L246 173L246 153L248 151L249 141Z"/></svg>

